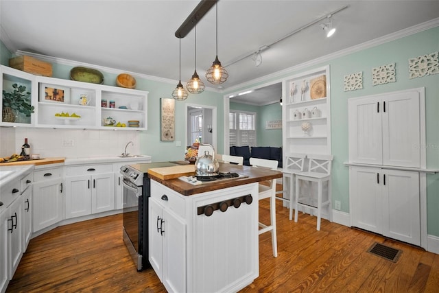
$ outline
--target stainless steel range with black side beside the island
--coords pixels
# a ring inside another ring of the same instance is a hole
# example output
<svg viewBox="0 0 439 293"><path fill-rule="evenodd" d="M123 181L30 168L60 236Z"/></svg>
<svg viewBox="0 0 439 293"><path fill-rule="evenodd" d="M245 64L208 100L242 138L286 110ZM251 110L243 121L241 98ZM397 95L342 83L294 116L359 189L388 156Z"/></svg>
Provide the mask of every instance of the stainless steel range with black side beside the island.
<svg viewBox="0 0 439 293"><path fill-rule="evenodd" d="M150 168L176 166L177 163L159 162L123 165L123 241L137 270L150 267L148 261L148 198L150 197Z"/></svg>

